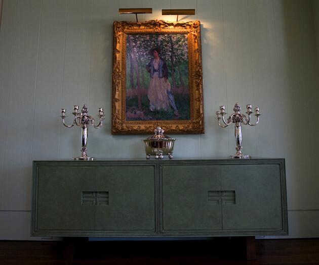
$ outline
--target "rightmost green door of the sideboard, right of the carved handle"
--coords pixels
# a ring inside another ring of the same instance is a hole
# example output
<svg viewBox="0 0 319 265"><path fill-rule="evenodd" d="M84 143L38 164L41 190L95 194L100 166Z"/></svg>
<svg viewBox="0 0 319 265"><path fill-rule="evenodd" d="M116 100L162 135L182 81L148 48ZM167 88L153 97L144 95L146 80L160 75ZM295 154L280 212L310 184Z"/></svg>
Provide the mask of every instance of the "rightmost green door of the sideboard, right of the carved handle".
<svg viewBox="0 0 319 265"><path fill-rule="evenodd" d="M280 164L222 166L222 189L234 193L223 205L223 230L282 231L283 199Z"/></svg>

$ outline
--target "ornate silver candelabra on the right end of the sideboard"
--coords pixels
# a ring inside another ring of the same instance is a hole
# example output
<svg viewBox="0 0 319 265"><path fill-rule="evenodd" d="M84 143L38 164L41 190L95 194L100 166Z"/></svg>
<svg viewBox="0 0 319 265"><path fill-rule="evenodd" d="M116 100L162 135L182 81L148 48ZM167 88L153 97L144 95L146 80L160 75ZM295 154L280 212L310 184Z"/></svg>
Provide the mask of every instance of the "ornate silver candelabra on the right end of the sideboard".
<svg viewBox="0 0 319 265"><path fill-rule="evenodd" d="M224 116L227 114L225 112L225 106L220 106L219 109L220 111L216 112L217 115L217 120L218 120L218 124L220 127L222 128L226 128L228 125L234 123L235 124L235 138L236 138L236 154L232 155L232 158L250 158L250 155L244 155L242 153L242 124L244 125L250 125L250 126L256 126L259 122L259 108L256 107L255 108L255 116L257 118L256 123L252 124L250 122L250 115L253 113L252 111L252 105L247 105L247 114L248 116L241 114L241 106L236 103L235 107L234 107L234 113L232 115L230 115L227 118L227 121L225 121ZM220 124L220 120L223 120L224 125Z"/></svg>

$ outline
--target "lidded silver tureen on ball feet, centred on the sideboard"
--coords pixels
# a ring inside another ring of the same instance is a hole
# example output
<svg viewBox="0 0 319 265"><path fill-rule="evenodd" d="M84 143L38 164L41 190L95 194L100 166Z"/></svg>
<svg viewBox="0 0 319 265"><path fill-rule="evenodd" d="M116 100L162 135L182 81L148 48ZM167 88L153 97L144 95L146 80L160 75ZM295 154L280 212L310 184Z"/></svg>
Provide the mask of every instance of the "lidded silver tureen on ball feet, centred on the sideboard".
<svg viewBox="0 0 319 265"><path fill-rule="evenodd" d="M173 147L176 139L164 135L164 130L157 127L154 130L154 135L143 140L145 142L146 159L151 155L155 155L155 159L163 159L164 155L173 158Z"/></svg>

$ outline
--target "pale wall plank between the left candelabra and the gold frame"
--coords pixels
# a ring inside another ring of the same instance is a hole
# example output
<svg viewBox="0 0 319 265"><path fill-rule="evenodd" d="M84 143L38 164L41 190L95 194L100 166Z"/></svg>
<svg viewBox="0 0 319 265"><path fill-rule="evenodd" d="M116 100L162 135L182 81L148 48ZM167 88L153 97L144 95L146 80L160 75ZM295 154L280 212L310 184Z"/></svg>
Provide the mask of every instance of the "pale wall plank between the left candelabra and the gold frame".
<svg viewBox="0 0 319 265"><path fill-rule="evenodd" d="M113 21L118 18L117 2L94 1L90 71L89 114L96 117L104 108L105 120L101 129L89 128L88 151L94 157L112 157L117 149L111 136ZM79 137L80 129L73 132ZM79 138L77 138L79 140ZM114 142L116 143L116 142ZM77 142L77 148L81 142ZM120 148L122 149L122 148ZM78 150L77 150L78 152Z"/></svg>

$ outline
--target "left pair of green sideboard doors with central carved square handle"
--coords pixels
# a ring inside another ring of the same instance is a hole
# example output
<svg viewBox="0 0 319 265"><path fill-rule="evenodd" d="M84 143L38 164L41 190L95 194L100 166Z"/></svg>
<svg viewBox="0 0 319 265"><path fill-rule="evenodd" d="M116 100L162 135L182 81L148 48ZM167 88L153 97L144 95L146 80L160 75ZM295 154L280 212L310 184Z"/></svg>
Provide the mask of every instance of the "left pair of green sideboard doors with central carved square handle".
<svg viewBox="0 0 319 265"><path fill-rule="evenodd" d="M40 165L32 232L155 233L155 183L155 166Z"/></svg>

